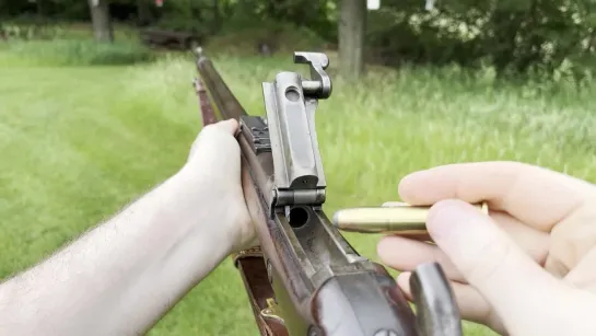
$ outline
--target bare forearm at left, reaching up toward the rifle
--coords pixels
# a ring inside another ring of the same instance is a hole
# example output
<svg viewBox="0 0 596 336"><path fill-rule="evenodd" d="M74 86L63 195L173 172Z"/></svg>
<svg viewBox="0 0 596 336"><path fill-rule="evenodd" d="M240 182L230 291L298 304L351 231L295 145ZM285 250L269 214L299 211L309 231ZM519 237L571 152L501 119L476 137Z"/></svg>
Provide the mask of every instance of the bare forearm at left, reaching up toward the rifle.
<svg viewBox="0 0 596 336"><path fill-rule="evenodd" d="M153 325L234 241L225 205L200 175L180 171L0 286L0 334L136 335Z"/></svg>

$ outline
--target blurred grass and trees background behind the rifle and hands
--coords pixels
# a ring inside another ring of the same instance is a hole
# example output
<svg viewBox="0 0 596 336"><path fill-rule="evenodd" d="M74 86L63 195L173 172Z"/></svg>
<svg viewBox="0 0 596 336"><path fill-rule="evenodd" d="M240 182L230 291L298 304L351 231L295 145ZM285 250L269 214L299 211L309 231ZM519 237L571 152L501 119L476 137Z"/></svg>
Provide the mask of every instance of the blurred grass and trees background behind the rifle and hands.
<svg viewBox="0 0 596 336"><path fill-rule="evenodd" d="M406 174L455 162L515 160L595 182L595 7L0 0L0 279L184 164L201 128L196 46L253 115L265 114L261 82L307 73L294 50L329 56L334 93L316 114L328 213L399 200ZM348 237L378 260L378 236ZM150 334L258 335L231 262Z"/></svg>

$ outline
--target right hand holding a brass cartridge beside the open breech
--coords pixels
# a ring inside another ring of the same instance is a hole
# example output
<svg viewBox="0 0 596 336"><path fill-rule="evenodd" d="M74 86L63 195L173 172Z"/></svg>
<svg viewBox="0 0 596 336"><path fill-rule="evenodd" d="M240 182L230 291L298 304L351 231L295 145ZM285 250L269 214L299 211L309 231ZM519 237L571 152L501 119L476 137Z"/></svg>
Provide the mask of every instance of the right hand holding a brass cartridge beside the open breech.
<svg viewBox="0 0 596 336"><path fill-rule="evenodd" d="M596 335L596 186L483 162L410 174L399 195L433 205L426 227L436 245L386 236L377 246L404 271L397 281L410 300L409 271L437 262L465 320L511 335ZM490 217L468 204L482 200Z"/></svg>

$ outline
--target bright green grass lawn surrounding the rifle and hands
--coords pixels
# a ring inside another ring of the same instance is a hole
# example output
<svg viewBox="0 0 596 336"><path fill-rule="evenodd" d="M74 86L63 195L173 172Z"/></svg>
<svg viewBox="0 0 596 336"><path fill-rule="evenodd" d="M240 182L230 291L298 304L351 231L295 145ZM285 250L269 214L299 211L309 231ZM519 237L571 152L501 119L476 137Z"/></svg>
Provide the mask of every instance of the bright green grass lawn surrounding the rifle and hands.
<svg viewBox="0 0 596 336"><path fill-rule="evenodd" d="M290 55L214 59L241 103L258 115L260 82L296 69L290 62ZM180 58L0 68L0 279L42 260L183 164L200 130L194 76L191 61ZM494 85L489 72L469 78L425 69L375 72L358 84L335 77L334 84L316 115L328 213L396 200L404 175L453 162L517 160L596 181L591 92ZM378 260L377 236L348 236ZM257 335L252 318L226 260L151 335ZM466 335L491 333L466 323Z"/></svg>

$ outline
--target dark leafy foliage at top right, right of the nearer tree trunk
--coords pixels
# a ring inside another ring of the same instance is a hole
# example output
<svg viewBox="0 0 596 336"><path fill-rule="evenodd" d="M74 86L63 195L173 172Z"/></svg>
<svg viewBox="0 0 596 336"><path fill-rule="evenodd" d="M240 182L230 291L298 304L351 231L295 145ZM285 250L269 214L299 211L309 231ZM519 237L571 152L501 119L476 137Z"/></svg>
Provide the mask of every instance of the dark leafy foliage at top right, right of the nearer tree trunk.
<svg viewBox="0 0 596 336"><path fill-rule="evenodd" d="M594 66L594 1L386 0L370 13L369 44L385 63L466 67L499 74L536 73L589 79Z"/></svg>

